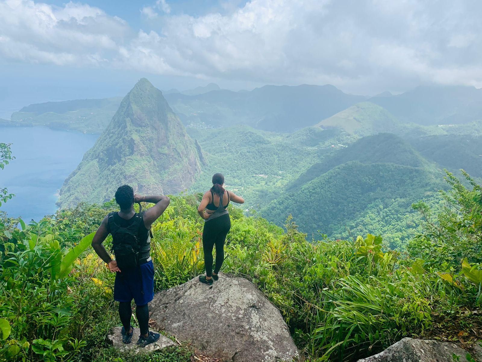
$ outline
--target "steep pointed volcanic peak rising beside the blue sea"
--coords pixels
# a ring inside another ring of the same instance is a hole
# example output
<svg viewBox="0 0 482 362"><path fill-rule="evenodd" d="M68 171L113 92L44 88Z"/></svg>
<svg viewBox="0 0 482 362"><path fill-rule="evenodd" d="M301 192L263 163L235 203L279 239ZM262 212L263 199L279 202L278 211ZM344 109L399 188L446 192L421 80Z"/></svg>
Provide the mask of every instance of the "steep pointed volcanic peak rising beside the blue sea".
<svg viewBox="0 0 482 362"><path fill-rule="evenodd" d="M143 78L60 190L57 205L111 200L122 184L144 194L185 190L200 154L159 89Z"/></svg>

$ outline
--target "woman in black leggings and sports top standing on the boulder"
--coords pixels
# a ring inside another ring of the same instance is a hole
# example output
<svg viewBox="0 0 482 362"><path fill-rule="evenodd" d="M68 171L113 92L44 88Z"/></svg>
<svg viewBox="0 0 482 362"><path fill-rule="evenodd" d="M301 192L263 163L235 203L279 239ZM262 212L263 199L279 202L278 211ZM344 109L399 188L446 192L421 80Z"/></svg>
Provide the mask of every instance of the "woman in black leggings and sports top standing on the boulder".
<svg viewBox="0 0 482 362"><path fill-rule="evenodd" d="M213 187L202 196L201 204L198 208L201 218L204 219L202 247L204 250L204 265L206 266L206 275L201 275L199 280L209 285L213 284L213 279L217 280L219 278L217 273L224 261L224 242L231 227L227 209L229 201L238 204L244 203L242 197L225 190L223 184L224 176L220 173L214 174ZM216 246L216 265L213 272L214 245Z"/></svg>

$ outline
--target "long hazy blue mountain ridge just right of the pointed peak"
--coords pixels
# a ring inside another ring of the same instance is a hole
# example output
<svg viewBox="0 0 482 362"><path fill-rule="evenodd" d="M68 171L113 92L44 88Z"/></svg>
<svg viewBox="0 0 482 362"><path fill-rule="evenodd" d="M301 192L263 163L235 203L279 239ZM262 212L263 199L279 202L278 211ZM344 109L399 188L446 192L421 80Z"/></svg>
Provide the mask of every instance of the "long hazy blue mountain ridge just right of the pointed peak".
<svg viewBox="0 0 482 362"><path fill-rule="evenodd" d="M250 125L268 131L293 131L319 123L365 100L333 85L265 85L250 92L214 90L196 96L166 96L185 124Z"/></svg>

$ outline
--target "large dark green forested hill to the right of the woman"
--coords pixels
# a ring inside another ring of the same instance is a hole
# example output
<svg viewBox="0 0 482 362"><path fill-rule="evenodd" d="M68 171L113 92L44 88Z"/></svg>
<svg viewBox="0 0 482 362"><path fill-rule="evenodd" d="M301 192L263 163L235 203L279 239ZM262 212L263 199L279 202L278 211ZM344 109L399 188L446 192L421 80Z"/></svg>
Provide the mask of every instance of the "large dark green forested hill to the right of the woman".
<svg viewBox="0 0 482 362"><path fill-rule="evenodd" d="M331 237L380 233L398 247L419 227L412 203L435 200L441 180L442 172L405 141L379 134L313 165L261 212L278 221L292 214L301 230Z"/></svg>

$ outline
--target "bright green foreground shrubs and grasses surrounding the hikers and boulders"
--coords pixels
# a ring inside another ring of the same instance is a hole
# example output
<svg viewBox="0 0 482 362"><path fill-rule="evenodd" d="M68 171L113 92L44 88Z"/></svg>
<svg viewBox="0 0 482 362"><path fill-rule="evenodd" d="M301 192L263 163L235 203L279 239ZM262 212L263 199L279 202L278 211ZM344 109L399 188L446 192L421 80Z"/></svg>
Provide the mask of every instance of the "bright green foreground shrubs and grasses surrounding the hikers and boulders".
<svg viewBox="0 0 482 362"><path fill-rule="evenodd" d="M451 191L442 194L435 220L426 204L415 206L427 222L402 255L371 234L310 242L290 218L279 227L230 207L223 271L258 285L310 361L356 360L404 336L475 342L474 326L482 322L482 189L466 177L471 188L448 174ZM203 270L200 197L173 196L153 226L157 290ZM114 276L90 248L73 262L69 257L112 209L113 202L81 204L19 228L17 220L1 221L0 360L130 360L104 347L107 330L120 323ZM58 272L62 263L73 266L67 276ZM189 361L193 353L171 348L136 361Z"/></svg>

